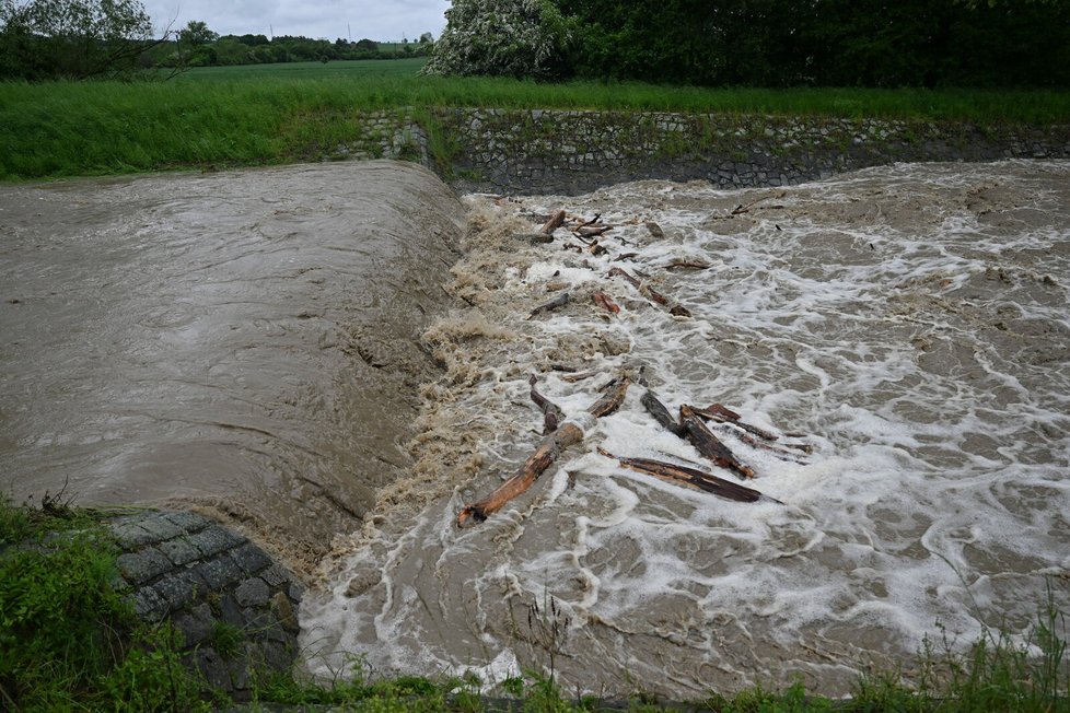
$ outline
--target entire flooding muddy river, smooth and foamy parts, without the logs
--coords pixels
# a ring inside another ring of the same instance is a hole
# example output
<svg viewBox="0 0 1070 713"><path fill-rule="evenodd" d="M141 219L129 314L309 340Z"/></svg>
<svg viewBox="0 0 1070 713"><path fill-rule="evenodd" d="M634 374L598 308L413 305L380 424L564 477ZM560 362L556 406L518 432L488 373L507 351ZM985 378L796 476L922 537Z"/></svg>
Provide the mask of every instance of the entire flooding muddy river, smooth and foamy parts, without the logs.
<svg viewBox="0 0 1070 713"><path fill-rule="evenodd" d="M909 673L938 623L962 644L1027 631L1048 592L1070 608L1070 162L464 203L386 163L4 188L0 484L305 542L324 675L356 652L488 685L838 693ZM515 237L560 208L613 225L605 252ZM723 404L811 451L713 426L779 502L601 455L733 478L636 385L456 527L540 440L531 375L569 416L640 370L673 410Z"/></svg>

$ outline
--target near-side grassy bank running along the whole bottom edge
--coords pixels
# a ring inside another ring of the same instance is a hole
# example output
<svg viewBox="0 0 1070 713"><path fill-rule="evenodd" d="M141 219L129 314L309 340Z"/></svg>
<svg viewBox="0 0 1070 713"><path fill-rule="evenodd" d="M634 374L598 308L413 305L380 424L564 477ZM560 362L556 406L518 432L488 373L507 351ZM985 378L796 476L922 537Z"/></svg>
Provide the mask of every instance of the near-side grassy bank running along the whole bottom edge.
<svg viewBox="0 0 1070 713"><path fill-rule="evenodd" d="M173 631L146 628L112 591L116 548L98 514L47 500L42 509L0 498L0 709L191 711L232 701L181 666ZM57 533L59 533L57 535ZM1043 605L1044 603L1042 603ZM329 705L372 711L1070 711L1066 622L1042 607L1028 641L999 633L966 653L927 646L920 677L894 673L859 679L846 700L754 688L731 697L666 706L641 692L607 702L570 694L537 674L490 688L477 678L372 677L353 658L345 680L325 686L293 675L255 676L252 710ZM488 698L492 696L493 698Z"/></svg>

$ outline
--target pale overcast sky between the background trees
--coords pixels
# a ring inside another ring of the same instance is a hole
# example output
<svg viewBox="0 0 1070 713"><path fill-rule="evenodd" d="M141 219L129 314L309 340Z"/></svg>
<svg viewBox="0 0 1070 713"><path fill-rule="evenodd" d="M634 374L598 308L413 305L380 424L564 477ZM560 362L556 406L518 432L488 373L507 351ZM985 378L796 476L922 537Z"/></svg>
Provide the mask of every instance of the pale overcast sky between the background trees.
<svg viewBox="0 0 1070 713"><path fill-rule="evenodd" d="M302 35L353 42L435 38L449 0L142 0L156 34L170 24L208 23L221 35Z"/></svg>

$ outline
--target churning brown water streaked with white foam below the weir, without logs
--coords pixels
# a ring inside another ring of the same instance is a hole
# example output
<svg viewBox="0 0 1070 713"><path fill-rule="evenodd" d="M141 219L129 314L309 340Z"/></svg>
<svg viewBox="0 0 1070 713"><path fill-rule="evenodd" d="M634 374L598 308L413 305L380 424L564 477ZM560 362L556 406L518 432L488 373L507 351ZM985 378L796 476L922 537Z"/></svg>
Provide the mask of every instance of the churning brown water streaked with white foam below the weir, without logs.
<svg viewBox="0 0 1070 713"><path fill-rule="evenodd" d="M938 622L967 642L985 627L1024 633L1046 588L1070 604L1070 164L469 200L498 215L602 213L609 253L562 252L563 230L550 245L502 246L510 265L477 308L520 337L473 349L481 377L461 397L496 424L478 446L488 467L365 533L305 608L306 641L364 651L380 669L491 679L545 670L553 653L589 690L690 697L801 675L844 692L857 667L909 658ZM614 259L624 253L637 255ZM607 277L613 267L648 276L691 317ZM549 281L572 303L528 319L557 294ZM590 302L596 289L619 314ZM569 383L556 363L600 376ZM671 410L721 402L778 443L810 444L782 459L717 430L757 472L747 484L783 504L721 500L596 453L734 479L660 428L637 385L528 493L456 529L463 503L539 439L530 374L572 416L639 366ZM374 584L354 594L353 572L369 570Z"/></svg>

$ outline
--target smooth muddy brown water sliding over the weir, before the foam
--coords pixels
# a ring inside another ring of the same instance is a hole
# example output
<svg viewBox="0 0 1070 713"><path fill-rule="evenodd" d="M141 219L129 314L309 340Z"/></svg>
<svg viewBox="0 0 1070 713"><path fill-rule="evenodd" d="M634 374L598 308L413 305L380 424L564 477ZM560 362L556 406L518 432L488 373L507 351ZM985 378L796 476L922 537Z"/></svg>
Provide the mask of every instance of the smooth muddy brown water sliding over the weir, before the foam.
<svg viewBox="0 0 1070 713"><path fill-rule="evenodd" d="M389 162L0 188L0 489L324 551L407 467L462 224Z"/></svg>

